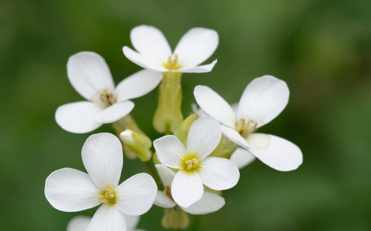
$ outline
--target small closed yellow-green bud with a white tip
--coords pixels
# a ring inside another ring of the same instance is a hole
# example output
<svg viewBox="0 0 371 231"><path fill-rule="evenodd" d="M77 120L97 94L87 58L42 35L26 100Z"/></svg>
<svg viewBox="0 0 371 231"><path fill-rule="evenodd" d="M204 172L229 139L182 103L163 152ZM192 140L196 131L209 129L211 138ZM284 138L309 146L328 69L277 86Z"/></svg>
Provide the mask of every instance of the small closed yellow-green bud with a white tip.
<svg viewBox="0 0 371 231"><path fill-rule="evenodd" d="M124 132L121 132L120 138L141 161L147 162L151 159L152 152L150 148L152 146L152 141L146 135L126 129Z"/></svg>

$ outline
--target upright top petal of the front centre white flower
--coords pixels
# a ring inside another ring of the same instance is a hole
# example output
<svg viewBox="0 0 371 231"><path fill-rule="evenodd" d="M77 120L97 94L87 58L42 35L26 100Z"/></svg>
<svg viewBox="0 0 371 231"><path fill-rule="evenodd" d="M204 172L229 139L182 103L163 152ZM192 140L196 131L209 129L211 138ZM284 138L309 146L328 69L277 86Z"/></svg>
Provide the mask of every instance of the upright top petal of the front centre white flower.
<svg viewBox="0 0 371 231"><path fill-rule="evenodd" d="M203 160L218 146L221 139L220 124L217 119L204 117L192 123L187 137L187 152L197 153Z"/></svg>

